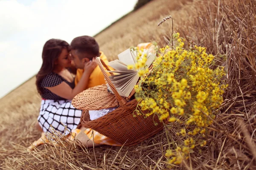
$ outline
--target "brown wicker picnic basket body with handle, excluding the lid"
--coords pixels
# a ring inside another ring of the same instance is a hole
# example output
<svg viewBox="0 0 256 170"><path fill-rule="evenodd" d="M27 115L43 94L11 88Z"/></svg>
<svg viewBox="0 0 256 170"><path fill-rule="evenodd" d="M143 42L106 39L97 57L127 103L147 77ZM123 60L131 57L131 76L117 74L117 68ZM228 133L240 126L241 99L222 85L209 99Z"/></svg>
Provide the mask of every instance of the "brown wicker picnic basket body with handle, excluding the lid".
<svg viewBox="0 0 256 170"><path fill-rule="evenodd" d="M96 130L102 135L105 135L121 144L130 146L143 142L145 139L148 139L163 130L163 123L159 121L157 115L151 115L147 118L144 118L143 115L134 117L133 112L136 110L138 105L136 99L131 99L134 91L132 91L130 96L127 98L121 97L111 83L111 80L103 67L104 65L105 68L109 70L108 66L99 57L97 57L96 61L104 74L108 85L113 91L113 95L115 96L113 101L117 100L119 108L95 120L90 120L89 111L86 109L83 111L81 116L81 124L84 127ZM87 93L86 95L95 94ZM100 105L100 103L97 103L97 100L95 101L95 105ZM146 114L149 113L149 111L143 111L143 113ZM157 125L155 125L155 123L157 123Z"/></svg>

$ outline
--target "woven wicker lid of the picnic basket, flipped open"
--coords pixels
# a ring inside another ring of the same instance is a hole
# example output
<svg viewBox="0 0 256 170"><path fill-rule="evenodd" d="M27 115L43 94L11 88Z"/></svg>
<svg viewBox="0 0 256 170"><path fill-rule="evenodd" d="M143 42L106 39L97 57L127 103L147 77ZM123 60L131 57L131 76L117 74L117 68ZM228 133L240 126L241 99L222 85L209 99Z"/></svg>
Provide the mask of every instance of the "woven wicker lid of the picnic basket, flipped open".
<svg viewBox="0 0 256 170"><path fill-rule="evenodd" d="M98 85L77 94L72 105L79 110L100 110L118 107L116 96L108 92L107 85Z"/></svg>

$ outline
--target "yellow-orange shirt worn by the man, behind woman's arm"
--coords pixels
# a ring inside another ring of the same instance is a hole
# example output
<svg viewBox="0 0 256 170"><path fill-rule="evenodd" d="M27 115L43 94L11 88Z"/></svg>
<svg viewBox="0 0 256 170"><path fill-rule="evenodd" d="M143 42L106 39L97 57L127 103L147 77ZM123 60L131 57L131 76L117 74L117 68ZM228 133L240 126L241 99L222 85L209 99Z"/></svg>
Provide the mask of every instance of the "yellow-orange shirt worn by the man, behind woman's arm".
<svg viewBox="0 0 256 170"><path fill-rule="evenodd" d="M100 51L100 53L101 53L100 58L106 63L106 65L108 65L107 57L105 56L105 54L102 51ZM76 78L75 78L75 85L77 85L77 83L81 79L83 73L84 73L84 69L77 69ZM102 74L102 71L100 70L99 66L97 66L93 70L93 72L90 74L88 85L84 90L86 90L87 88L92 88L94 86L102 85L102 84L105 84L105 83L106 82L105 82L105 79L104 79L104 75Z"/></svg>

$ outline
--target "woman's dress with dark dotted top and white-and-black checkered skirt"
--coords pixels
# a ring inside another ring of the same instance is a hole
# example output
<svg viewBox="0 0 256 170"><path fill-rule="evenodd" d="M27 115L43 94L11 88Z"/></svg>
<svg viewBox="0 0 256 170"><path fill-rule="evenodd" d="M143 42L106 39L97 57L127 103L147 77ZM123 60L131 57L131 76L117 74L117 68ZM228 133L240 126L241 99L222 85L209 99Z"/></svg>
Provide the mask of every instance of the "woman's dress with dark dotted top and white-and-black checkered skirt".
<svg viewBox="0 0 256 170"><path fill-rule="evenodd" d="M69 131L76 129L80 123L81 110L77 110L71 105L71 101L53 94L45 87L54 87L61 82L66 82L74 88L74 82L70 83L56 73L50 73L41 81L42 102L38 116L39 125L44 132L54 130L67 135ZM52 125L52 127L51 127Z"/></svg>

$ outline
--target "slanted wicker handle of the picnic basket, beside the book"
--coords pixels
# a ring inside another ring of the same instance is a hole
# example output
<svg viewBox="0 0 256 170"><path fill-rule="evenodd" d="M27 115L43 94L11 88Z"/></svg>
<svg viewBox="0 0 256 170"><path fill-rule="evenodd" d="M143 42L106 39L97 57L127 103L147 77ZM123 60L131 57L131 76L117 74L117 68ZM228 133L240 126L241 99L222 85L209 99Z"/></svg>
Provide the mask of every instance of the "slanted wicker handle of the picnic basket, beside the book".
<svg viewBox="0 0 256 170"><path fill-rule="evenodd" d="M98 63L99 68L101 69L101 71L102 71L102 73L103 73L103 75L104 75L106 81L108 82L109 87L111 88L111 90L112 90L113 93L115 94L116 99L117 99L119 105L120 105L120 106L125 105L125 104L127 103L126 100L123 99L123 98L118 94L118 92L116 91L115 86L113 85L113 83L111 82L111 80L110 80L109 77L108 77L108 74L106 73L105 69L103 68L103 65L104 65L104 67L105 67L108 71L110 71L110 69L108 68L108 66L105 64L105 62L104 62L100 57L97 57L97 58L96 58L96 62Z"/></svg>

